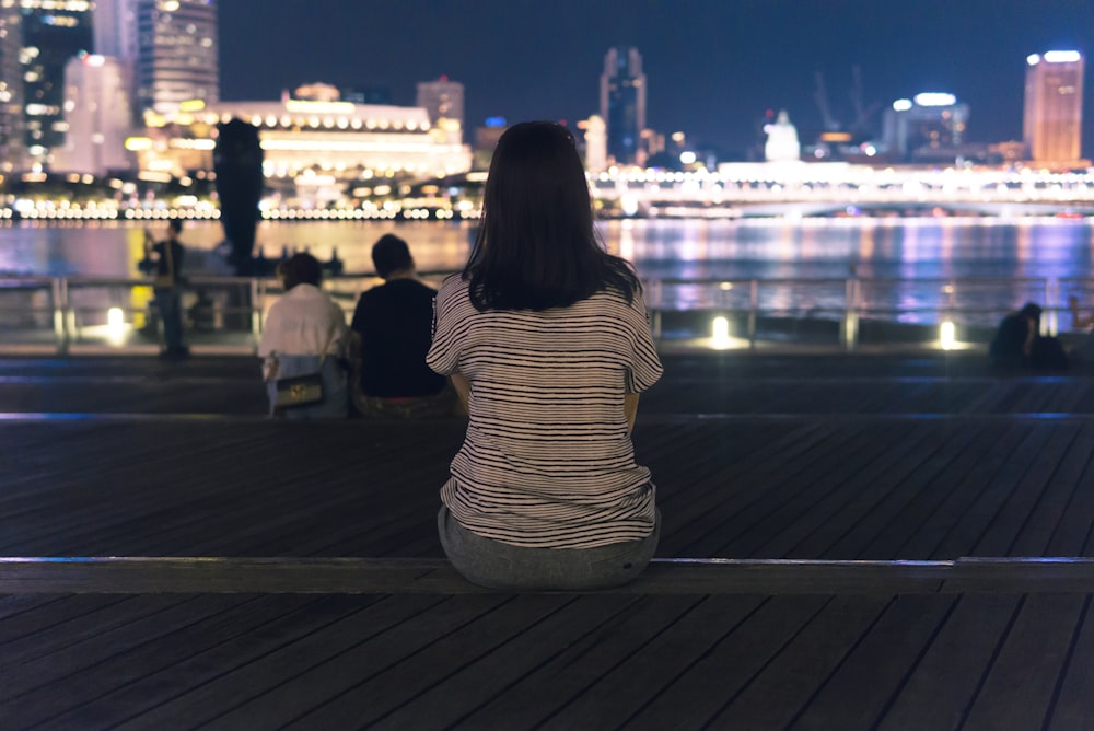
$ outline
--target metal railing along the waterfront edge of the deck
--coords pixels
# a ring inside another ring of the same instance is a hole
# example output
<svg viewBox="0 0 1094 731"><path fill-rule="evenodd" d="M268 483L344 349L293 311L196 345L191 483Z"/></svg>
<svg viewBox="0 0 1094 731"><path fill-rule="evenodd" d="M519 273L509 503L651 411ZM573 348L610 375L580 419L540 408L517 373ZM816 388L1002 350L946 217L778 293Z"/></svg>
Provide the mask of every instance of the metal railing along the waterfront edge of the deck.
<svg viewBox="0 0 1094 731"><path fill-rule="evenodd" d="M447 274L423 278L435 285ZM379 282L373 275L331 277L324 289L350 316L360 293ZM1094 302L1094 279L1083 278L661 278L644 287L659 340L714 349L975 348L1023 302L1044 308L1041 329L1052 335L1071 329L1069 295ZM183 292L186 338L199 353L255 352L264 313L282 293L277 280L249 277L190 277ZM0 352L159 348L150 279L0 275Z"/></svg>

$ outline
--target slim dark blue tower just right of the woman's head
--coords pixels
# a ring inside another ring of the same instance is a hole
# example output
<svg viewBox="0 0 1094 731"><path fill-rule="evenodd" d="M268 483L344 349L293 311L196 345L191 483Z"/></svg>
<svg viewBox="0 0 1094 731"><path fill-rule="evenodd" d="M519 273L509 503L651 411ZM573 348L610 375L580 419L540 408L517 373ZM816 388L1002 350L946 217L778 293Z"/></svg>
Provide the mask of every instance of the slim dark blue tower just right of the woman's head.
<svg viewBox="0 0 1094 731"><path fill-rule="evenodd" d="M639 161L645 129L645 74L637 48L612 48L601 74L601 117L607 124L608 156L620 164Z"/></svg>

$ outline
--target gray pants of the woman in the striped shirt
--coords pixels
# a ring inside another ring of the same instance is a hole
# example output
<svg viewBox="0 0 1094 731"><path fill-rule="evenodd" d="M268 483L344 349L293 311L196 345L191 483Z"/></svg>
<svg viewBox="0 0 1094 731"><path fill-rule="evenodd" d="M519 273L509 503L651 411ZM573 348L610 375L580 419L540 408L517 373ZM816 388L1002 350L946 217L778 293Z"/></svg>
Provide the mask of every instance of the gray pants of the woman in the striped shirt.
<svg viewBox="0 0 1094 731"><path fill-rule="evenodd" d="M661 537L661 511L648 537L595 548L526 548L484 538L445 506L437 527L452 566L472 583L499 591L585 591L618 587L642 572Z"/></svg>

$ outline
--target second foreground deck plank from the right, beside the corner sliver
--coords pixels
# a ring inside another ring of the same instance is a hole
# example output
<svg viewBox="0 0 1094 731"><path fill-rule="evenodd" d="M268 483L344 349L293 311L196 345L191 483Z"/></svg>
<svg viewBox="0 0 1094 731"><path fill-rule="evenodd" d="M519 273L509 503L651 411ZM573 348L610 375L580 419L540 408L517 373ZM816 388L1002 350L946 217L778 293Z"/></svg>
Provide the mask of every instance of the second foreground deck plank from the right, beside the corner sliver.
<svg viewBox="0 0 1094 731"><path fill-rule="evenodd" d="M1086 603L1076 594L1026 597L962 728L1044 728Z"/></svg>

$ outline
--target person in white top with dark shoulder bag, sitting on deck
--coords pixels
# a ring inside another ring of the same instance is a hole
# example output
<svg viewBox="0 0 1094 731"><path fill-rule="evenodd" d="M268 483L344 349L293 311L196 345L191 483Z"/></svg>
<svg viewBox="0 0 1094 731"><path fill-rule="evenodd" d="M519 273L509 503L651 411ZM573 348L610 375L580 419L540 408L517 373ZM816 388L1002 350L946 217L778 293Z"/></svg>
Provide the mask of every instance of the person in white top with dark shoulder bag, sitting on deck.
<svg viewBox="0 0 1094 731"><path fill-rule="evenodd" d="M270 416L288 419L345 418L349 395L344 368L346 314L319 289L322 266L311 254L293 254L278 266L284 294L266 314L258 356ZM318 372L323 399L306 406L277 407L279 379Z"/></svg>

